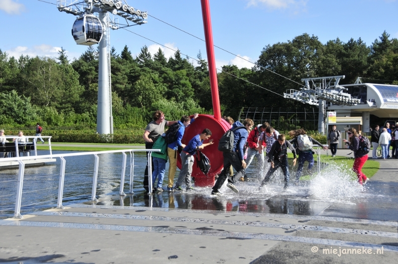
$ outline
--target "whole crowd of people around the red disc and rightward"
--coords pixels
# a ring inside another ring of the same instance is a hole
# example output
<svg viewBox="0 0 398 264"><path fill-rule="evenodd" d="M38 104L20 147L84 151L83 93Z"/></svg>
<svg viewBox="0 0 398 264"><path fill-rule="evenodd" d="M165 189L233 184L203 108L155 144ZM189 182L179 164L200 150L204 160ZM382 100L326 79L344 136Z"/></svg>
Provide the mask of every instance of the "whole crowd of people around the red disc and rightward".
<svg viewBox="0 0 398 264"><path fill-rule="evenodd" d="M143 138L146 149L156 148L161 149L161 152L152 153L154 168L151 177L154 183L153 186L149 186L148 183L148 166L145 170L144 188L147 192L149 192L149 188L152 188L153 192L163 191L162 184L167 160L170 162L167 190L169 192L194 190L191 182L192 168L195 163L194 156L197 155L197 150L213 144L213 139L209 139L212 133L208 128L204 128L202 133L193 137L187 145L182 143L181 140L183 139L185 128L193 123L198 116L198 114L195 114L194 118L191 119L189 116L184 115L181 120L167 121L162 111L158 110L154 113L154 120L147 125ZM295 184L298 184L305 162L308 162L307 172L311 175L311 169L314 165L313 146L319 146L325 151L330 148L332 157L335 157L337 145L341 138L340 131L336 129L335 125L332 126L327 134L329 144L322 145L314 138L308 136L304 129L290 131L289 136L291 139L288 141L286 140L286 135L280 134L267 122L259 124L252 129L254 122L249 118L245 119L243 123L234 121L231 117L224 117L224 119L231 126L233 146L231 150L222 152L223 170L215 177L215 184L211 188L212 195L220 194L220 188L226 180L228 188L234 192L239 192L235 184L238 180L248 180L246 170L252 164L254 158L257 160L255 175L260 182L260 189L269 182L271 176L278 168L282 169L284 188L287 188L290 184L288 149L291 150L294 156L293 166L296 166L298 160L298 170L293 180ZM169 130L165 133L166 126L169 127ZM398 123L396 127L398 128ZM390 124L387 123L382 133L379 132L379 126L376 126L372 131L373 158L377 158L376 151L379 144L383 150L383 159L389 158L388 150L390 145L394 146L392 156L394 158L398 157L398 147L396 147L398 140L394 141L395 137L398 139L398 129L389 129ZM174 134L170 131L174 131ZM352 170L357 174L359 184L364 185L368 182L368 178L362 173L362 167L368 159L370 147L369 150L362 147L363 137L354 128L348 129L347 135L348 140L343 139L343 142L348 149L354 152L355 161ZM203 141L206 140L208 142L203 144ZM156 142L155 145L154 142ZM177 182L174 184L174 177L177 171L177 155L181 155L182 168ZM155 182L156 179L158 179L157 183ZM185 189L183 188L184 184Z"/></svg>

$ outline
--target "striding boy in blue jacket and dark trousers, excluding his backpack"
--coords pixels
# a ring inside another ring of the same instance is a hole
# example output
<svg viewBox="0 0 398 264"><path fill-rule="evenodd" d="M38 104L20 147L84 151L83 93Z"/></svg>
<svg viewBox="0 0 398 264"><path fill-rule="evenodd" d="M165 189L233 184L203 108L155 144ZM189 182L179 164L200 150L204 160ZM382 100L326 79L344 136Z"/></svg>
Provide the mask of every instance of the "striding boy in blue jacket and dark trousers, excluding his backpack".
<svg viewBox="0 0 398 264"><path fill-rule="evenodd" d="M233 132L234 135L234 141L233 141L233 149L230 152L223 152L222 156L224 158L224 169L222 170L221 174L218 176L214 186L211 188L211 194L212 195L220 195L219 189L222 187L222 184L224 184L225 180L227 179L227 171L229 171L229 168L232 166L236 174L232 176L230 179L228 179L227 187L232 189L234 192L239 192L239 190L235 187L235 182L241 178L242 176L245 175L245 169L246 169L246 162L244 159L244 151L243 147L246 143L248 132L247 130L250 130L253 127L254 123L253 120L250 118L245 119L243 121L243 124L239 121L236 121L232 125L232 129L244 126L244 128L236 129Z"/></svg>

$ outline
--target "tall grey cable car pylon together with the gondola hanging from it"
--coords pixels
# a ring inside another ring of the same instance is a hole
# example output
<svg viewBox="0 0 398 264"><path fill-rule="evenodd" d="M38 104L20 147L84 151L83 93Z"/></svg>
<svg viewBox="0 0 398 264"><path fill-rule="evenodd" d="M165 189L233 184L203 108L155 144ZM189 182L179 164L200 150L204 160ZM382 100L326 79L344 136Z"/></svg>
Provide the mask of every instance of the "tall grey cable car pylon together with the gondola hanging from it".
<svg viewBox="0 0 398 264"><path fill-rule="evenodd" d="M113 134L109 29L145 24L148 15L126 0L57 0L57 8L79 16L72 27L78 45L99 44L97 133ZM109 13L124 18L125 23L111 20Z"/></svg>

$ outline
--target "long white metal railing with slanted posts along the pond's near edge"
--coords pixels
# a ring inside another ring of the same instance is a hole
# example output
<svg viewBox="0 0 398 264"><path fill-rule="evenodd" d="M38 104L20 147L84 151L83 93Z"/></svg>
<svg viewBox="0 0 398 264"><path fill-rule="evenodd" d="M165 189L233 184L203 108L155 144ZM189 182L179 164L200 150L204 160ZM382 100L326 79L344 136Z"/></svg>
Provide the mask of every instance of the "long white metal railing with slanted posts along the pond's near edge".
<svg viewBox="0 0 398 264"><path fill-rule="evenodd" d="M65 154L55 154L55 155L41 155L40 158L60 158L61 159L61 167L60 167L60 177L59 177L59 187L58 187L58 199L57 199L57 208L63 209L62 206L62 197L64 192L64 179L65 179L65 166L66 160L65 157L73 157L73 156L84 156L84 155L94 155L94 176L93 176L93 186L92 186L92 196L91 201L98 201L96 198L97 191L97 179L98 179L98 168L100 164L99 154L105 153L122 153L123 161L122 161L122 171L120 176L120 190L119 195L125 196L126 194L123 191L124 187L124 178L126 172L126 164L127 164L127 155L126 153L130 153L130 183L129 183L129 193L133 194L133 179L134 179L134 152L148 152L147 158L147 166L148 166L148 192L152 194L152 152L160 152L160 149L125 149L125 150L108 150L108 151L96 151L96 152L83 152L83 153L65 153ZM20 214L21 209L21 200L22 200L22 186L23 186L23 177L25 172L25 164L23 161L36 159L37 157L28 156L28 157L14 157L14 158L3 158L1 161L17 161L19 163L18 169L18 183L16 190L16 199L15 199L15 211L14 218L22 218Z"/></svg>

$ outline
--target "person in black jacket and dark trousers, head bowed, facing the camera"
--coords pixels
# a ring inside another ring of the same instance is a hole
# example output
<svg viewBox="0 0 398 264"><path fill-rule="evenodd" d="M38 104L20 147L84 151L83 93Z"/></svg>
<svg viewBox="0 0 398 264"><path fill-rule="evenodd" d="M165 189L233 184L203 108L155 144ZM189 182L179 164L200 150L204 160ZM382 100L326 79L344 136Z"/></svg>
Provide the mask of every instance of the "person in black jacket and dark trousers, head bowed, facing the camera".
<svg viewBox="0 0 398 264"><path fill-rule="evenodd" d="M281 167L283 171L283 175L285 176L285 185L284 189L289 186L289 164L288 164L288 148L293 152L294 160L293 166L296 166L296 150L293 145L286 140L286 136L284 134L280 134L278 136L278 140L274 142L271 146L271 150L268 153L268 160L271 163L271 168L268 173L265 175L263 181L261 182L260 188L263 187L270 180L271 175Z"/></svg>

